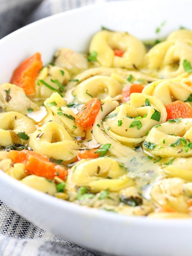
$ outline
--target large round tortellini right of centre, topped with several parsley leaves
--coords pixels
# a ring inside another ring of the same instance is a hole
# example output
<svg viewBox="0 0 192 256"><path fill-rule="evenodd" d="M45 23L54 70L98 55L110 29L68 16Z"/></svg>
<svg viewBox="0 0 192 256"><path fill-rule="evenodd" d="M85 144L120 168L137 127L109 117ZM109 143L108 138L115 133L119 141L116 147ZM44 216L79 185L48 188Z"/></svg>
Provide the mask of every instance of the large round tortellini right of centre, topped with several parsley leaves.
<svg viewBox="0 0 192 256"><path fill-rule="evenodd" d="M110 137L136 147L144 141L153 126L166 121L167 113L156 97L132 93L130 101L120 104L102 121L102 127Z"/></svg>

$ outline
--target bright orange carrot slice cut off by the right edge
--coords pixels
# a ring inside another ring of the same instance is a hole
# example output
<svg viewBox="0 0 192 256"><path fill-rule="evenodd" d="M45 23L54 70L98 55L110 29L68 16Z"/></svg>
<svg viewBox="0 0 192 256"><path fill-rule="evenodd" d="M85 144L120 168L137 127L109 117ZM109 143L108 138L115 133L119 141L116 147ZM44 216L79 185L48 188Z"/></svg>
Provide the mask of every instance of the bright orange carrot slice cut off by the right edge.
<svg viewBox="0 0 192 256"><path fill-rule="evenodd" d="M183 101L173 101L165 105L167 120L176 118L191 118L192 108Z"/></svg>

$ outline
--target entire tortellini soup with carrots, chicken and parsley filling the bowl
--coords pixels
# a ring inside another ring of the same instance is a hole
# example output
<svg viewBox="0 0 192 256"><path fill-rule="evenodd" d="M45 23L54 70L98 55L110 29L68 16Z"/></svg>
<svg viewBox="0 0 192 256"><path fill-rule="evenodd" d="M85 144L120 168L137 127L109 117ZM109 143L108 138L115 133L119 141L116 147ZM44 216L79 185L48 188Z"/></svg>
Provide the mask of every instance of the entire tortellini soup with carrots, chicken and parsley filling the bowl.
<svg viewBox="0 0 192 256"><path fill-rule="evenodd" d="M82 206L190 218L191 65L186 29L150 49L103 29L44 66L34 53L0 87L0 169Z"/></svg>

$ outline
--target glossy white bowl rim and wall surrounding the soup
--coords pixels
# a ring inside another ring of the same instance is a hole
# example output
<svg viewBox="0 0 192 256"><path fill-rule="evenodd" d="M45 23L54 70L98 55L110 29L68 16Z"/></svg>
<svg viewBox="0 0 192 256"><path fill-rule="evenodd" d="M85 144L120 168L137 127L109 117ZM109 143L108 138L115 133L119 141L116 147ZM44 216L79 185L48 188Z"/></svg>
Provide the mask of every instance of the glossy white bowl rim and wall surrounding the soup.
<svg viewBox="0 0 192 256"><path fill-rule="evenodd" d="M86 51L101 25L146 39L190 28L192 2L116 1L37 21L0 40L0 83L34 52L44 64L59 47ZM160 33L155 30L162 22ZM126 217L74 205L38 192L0 171L0 198L35 225L81 246L116 255L191 255L191 219Z"/></svg>

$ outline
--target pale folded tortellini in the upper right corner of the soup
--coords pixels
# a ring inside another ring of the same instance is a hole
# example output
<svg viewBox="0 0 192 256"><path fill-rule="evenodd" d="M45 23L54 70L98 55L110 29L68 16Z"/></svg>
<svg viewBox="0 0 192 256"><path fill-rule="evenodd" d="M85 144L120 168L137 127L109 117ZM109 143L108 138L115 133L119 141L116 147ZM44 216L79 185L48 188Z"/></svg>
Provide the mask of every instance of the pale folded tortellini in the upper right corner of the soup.
<svg viewBox="0 0 192 256"><path fill-rule="evenodd" d="M156 70L160 78L172 78L185 72L184 61L192 64L192 32L175 31L153 46L145 55L144 68Z"/></svg>

